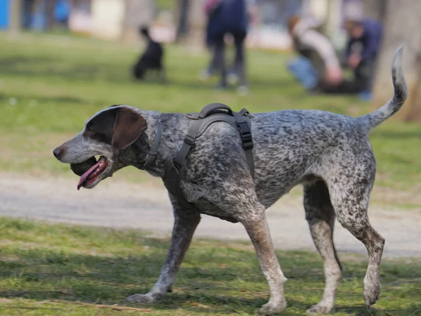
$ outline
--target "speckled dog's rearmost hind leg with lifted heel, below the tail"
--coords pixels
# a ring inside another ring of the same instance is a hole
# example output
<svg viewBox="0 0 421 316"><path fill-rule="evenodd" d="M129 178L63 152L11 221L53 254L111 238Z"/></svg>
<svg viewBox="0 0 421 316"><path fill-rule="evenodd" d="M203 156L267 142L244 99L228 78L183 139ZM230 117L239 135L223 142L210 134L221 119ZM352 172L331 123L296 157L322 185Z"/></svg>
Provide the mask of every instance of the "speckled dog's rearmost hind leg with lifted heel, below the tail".
<svg viewBox="0 0 421 316"><path fill-rule="evenodd" d="M368 252L363 295L367 307L373 305L380 296L380 262L385 246L385 239L370 225L367 215L374 176L373 162L366 166L347 166L347 170L331 175L328 180L330 200L339 223L359 239Z"/></svg>

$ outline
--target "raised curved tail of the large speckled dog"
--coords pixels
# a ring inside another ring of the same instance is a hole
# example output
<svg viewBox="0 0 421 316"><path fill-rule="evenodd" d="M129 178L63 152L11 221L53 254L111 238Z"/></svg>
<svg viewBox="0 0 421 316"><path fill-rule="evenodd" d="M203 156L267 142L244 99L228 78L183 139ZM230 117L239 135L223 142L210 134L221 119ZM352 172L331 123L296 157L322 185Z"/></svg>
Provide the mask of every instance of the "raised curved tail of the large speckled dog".
<svg viewBox="0 0 421 316"><path fill-rule="evenodd" d="M405 103L406 97L408 96L408 87L403 77L402 52L403 45L396 50L392 61L393 98L380 107L380 109L358 118L366 124L368 131L373 130L376 126L382 124L383 121L392 117L402 107L403 103Z"/></svg>

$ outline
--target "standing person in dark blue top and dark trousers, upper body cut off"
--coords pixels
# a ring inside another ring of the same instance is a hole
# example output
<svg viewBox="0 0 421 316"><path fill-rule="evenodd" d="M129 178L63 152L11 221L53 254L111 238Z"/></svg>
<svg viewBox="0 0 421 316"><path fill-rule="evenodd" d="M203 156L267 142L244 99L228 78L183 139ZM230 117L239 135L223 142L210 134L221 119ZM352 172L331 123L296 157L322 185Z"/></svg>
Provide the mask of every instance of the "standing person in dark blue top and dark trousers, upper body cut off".
<svg viewBox="0 0 421 316"><path fill-rule="evenodd" d="M233 72L238 75L240 92L247 91L244 41L247 36L248 13L246 0L209 0L205 10L208 15L206 41L213 47L211 67L219 70L221 79L218 88L227 87L225 64L225 35L234 39L235 57Z"/></svg>

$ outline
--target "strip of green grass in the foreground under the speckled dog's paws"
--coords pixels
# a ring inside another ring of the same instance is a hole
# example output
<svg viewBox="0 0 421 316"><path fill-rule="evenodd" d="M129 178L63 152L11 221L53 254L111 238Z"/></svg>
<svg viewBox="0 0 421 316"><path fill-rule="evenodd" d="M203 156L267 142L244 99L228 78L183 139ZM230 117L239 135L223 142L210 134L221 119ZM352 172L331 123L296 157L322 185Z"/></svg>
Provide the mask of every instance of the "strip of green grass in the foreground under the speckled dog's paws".
<svg viewBox="0 0 421 316"><path fill-rule="evenodd" d="M134 305L159 276L168 240L138 230L51 225L0 218L0 315L255 315L267 283L250 244L194 240L174 292ZM323 292L318 254L277 251L288 277L288 308L305 315ZM336 315L369 315L363 307L366 258L340 254L345 267ZM382 296L373 315L420 315L420 261L383 261ZM113 305L117 305L113 307ZM116 310L131 307L142 310Z"/></svg>

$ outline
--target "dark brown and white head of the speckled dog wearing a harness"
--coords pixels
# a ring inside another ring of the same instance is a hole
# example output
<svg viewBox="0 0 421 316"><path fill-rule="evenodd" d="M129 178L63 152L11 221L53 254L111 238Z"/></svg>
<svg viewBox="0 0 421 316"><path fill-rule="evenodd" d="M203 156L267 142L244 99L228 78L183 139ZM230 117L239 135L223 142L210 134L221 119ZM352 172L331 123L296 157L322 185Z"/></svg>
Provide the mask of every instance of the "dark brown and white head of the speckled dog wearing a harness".
<svg viewBox="0 0 421 316"><path fill-rule="evenodd" d="M81 176L78 190L91 189L130 164L131 146L146 129L145 118L133 107L113 105L95 114L81 133L55 148L53 154Z"/></svg>

